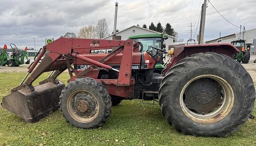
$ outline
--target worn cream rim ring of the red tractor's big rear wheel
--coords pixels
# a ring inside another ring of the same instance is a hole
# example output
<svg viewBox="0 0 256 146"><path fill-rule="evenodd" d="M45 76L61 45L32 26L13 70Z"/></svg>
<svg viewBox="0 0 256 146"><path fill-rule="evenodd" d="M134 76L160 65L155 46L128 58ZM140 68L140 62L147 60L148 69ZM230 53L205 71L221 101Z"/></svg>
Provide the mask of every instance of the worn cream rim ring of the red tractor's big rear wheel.
<svg viewBox="0 0 256 146"><path fill-rule="evenodd" d="M221 85L222 91L224 94L222 104L220 105L220 107L218 107L216 110L214 110L210 113L206 113L206 114L198 114L194 111L191 111L190 109L188 109L186 107L186 103L184 103L184 92L185 92L186 88L193 81L196 81L196 80L202 79L202 78L210 78L210 79L217 81ZM216 123L216 122L224 119L232 110L234 103L235 103L235 94L234 94L234 91L233 91L231 85L229 85L229 83L226 80L224 80L223 78L215 76L215 75L208 74L208 75L201 75L198 77L194 77L184 85L184 87L182 88L182 90L180 92L180 108L181 108L181 110L184 112L184 114L189 119L191 119L192 121L195 121L197 123Z"/></svg>

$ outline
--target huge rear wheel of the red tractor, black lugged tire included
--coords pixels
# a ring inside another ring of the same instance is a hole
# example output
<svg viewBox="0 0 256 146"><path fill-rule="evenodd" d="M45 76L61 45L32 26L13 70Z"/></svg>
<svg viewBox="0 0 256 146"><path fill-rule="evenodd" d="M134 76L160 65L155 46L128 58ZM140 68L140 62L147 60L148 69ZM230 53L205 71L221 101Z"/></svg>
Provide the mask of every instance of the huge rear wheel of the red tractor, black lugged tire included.
<svg viewBox="0 0 256 146"><path fill-rule="evenodd" d="M218 94L212 96L212 92ZM193 54L169 70L161 82L159 97L163 115L177 131L226 137L252 113L255 88L249 73L232 58L216 53ZM214 107L213 101L221 102L215 102ZM213 108L206 112L209 106Z"/></svg>

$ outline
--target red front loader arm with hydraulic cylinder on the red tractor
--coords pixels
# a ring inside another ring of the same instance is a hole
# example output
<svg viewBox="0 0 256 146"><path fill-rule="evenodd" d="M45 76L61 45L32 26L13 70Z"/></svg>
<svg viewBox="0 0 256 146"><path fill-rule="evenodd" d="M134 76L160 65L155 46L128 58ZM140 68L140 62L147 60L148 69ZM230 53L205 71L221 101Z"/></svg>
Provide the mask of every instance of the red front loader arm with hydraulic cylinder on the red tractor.
<svg viewBox="0 0 256 146"><path fill-rule="evenodd" d="M97 46L98 44L98 46ZM124 51L124 54L131 56L130 58L123 58L120 68L120 73L131 74L131 61L132 61L132 49L133 49L132 40L120 41L120 40L96 40L96 39L80 39L80 38L59 38L54 43L50 43L43 47L43 51L40 52L39 57L33 63L33 65L29 68L28 73L31 73L28 80L25 82L25 85L31 85L33 81L35 81L42 73L54 70L63 70L67 68L67 61L73 60L82 60L92 64L94 67L102 67L105 69L112 70L113 68L109 65L105 65L104 61L114 57L116 54ZM96 46L93 46L96 45ZM105 58L102 58L100 61L95 61L90 58L86 58L80 54L88 54L91 50L100 50L100 49L108 49L112 47L119 47L115 52L108 54ZM138 47L138 44L135 45ZM36 67L39 60L42 58L44 53L48 51L46 57L44 57L43 61L38 65L38 67L33 71ZM64 57L66 59L60 59ZM122 65L123 64L123 65ZM130 65L130 67L129 67ZM92 70L92 69L91 69ZM32 72L33 71L33 72ZM87 71L88 73L88 71ZM84 72L85 74L85 72ZM83 75L84 75L83 74ZM57 76L55 76L56 78ZM81 77L81 74L78 75ZM72 80L77 78L77 75L72 77ZM120 77L117 80L119 85L127 85L131 84L130 78L122 78Z"/></svg>

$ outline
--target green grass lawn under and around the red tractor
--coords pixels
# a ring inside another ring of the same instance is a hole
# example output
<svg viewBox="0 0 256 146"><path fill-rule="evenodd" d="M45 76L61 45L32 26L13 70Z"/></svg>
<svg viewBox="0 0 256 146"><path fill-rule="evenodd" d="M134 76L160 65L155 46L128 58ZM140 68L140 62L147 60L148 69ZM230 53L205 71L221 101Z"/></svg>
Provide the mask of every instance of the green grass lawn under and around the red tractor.
<svg viewBox="0 0 256 146"><path fill-rule="evenodd" d="M47 75L43 74L36 84ZM25 73L18 72L0 73L0 102L24 76ZM68 73L60 75L59 79L66 83ZM108 121L92 130L71 126L60 111L37 123L24 123L0 107L0 145L256 145L256 120L249 119L227 138L205 138L177 132L165 120L157 103L142 104L141 100L125 100L112 107Z"/></svg>

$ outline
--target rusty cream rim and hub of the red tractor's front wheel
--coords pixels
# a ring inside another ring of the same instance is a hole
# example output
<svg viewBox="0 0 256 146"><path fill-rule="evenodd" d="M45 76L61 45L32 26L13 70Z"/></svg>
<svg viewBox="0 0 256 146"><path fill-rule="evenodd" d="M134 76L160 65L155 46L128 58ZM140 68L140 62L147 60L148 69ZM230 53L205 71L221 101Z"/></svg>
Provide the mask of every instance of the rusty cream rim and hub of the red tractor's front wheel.
<svg viewBox="0 0 256 146"><path fill-rule="evenodd" d="M78 94L87 94L88 97L75 100L74 98L76 98ZM100 105L97 98L91 92L84 89L76 90L68 96L67 110L72 119L80 123L89 123L99 115Z"/></svg>

